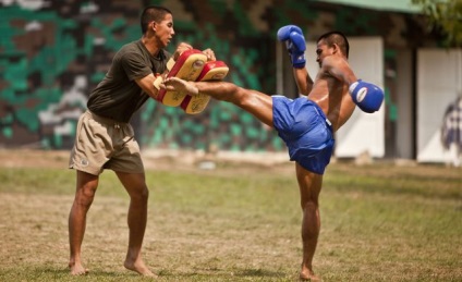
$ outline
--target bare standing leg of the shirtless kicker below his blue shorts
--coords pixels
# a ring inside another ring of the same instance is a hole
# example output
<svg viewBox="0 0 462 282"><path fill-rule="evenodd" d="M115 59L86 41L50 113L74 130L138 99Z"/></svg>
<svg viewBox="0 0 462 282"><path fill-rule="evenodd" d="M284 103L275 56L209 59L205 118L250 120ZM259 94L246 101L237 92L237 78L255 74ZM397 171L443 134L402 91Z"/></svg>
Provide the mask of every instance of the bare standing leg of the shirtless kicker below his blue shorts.
<svg viewBox="0 0 462 282"><path fill-rule="evenodd" d="M300 279L320 281L313 271L313 257L320 230L318 198L323 184L323 175L307 171L296 163L296 179L299 181L301 207L303 210L303 260Z"/></svg>

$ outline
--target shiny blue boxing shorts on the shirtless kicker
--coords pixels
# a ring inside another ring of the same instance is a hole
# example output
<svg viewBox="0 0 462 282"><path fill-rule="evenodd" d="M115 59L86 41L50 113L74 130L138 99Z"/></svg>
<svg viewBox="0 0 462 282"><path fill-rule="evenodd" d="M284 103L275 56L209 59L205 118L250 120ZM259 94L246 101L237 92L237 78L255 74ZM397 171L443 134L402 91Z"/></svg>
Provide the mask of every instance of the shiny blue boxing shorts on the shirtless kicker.
<svg viewBox="0 0 462 282"><path fill-rule="evenodd" d="M272 123L289 149L291 161L317 174L330 162L335 139L323 110L306 98L272 96Z"/></svg>

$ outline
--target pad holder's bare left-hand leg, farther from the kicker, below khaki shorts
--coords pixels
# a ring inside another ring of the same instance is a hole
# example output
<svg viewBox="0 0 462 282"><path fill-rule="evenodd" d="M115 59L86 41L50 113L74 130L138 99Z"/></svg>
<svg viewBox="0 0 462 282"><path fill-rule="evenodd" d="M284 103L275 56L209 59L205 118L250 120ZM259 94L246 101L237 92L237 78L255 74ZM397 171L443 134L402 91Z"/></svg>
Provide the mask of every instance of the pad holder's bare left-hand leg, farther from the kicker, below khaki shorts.
<svg viewBox="0 0 462 282"><path fill-rule="evenodd" d="M69 244L71 250L69 268L71 269L71 274L81 275L88 272L82 265L81 249L85 234L86 214L98 187L98 176L82 171L76 173L75 197L69 214Z"/></svg>

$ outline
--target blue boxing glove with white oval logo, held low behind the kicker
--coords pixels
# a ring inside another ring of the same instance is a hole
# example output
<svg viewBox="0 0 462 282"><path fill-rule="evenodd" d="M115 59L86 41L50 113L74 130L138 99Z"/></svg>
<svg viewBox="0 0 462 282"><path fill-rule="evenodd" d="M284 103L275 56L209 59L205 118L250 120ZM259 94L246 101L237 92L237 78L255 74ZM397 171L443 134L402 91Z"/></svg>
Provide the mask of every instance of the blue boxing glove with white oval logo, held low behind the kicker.
<svg viewBox="0 0 462 282"><path fill-rule="evenodd" d="M362 79L350 85L350 95L354 103L356 103L362 111L368 113L378 111L384 101L384 90Z"/></svg>

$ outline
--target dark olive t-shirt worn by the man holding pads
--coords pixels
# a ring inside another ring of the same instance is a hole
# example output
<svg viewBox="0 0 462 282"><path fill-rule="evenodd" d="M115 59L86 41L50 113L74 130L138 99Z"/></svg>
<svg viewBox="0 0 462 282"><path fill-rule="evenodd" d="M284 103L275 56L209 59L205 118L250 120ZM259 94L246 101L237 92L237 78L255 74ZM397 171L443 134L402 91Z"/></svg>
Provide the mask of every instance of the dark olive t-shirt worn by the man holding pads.
<svg viewBox="0 0 462 282"><path fill-rule="evenodd" d="M88 110L104 118L130 122L133 113L149 98L135 79L150 73L163 73L170 56L162 49L153 57L142 40L126 44L115 53L105 78L90 93Z"/></svg>

